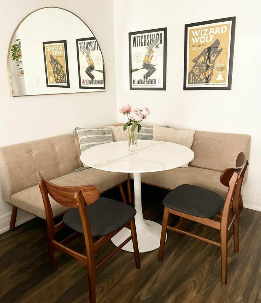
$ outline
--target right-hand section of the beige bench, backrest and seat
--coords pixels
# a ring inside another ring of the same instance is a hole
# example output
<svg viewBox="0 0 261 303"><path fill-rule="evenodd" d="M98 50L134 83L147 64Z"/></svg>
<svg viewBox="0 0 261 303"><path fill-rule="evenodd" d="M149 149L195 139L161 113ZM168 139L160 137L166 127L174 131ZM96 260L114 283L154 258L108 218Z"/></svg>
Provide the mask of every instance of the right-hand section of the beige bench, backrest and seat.
<svg viewBox="0 0 261 303"><path fill-rule="evenodd" d="M249 159L250 136L196 131L191 149L195 156L187 168L142 174L141 181L169 190L181 184L196 185L225 198L227 187L219 181L220 174L225 168L235 167L239 152L243 151Z"/></svg>

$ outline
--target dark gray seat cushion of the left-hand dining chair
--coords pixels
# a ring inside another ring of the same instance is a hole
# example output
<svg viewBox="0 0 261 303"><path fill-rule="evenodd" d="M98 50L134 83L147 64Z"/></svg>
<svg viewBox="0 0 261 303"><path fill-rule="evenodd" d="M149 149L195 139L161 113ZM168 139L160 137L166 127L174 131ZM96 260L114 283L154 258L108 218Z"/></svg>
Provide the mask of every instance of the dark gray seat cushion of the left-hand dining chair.
<svg viewBox="0 0 261 303"><path fill-rule="evenodd" d="M125 225L136 215L130 205L100 197L85 207L93 237L105 236ZM83 233L83 225L78 208L71 208L63 216L63 222L70 228Z"/></svg>

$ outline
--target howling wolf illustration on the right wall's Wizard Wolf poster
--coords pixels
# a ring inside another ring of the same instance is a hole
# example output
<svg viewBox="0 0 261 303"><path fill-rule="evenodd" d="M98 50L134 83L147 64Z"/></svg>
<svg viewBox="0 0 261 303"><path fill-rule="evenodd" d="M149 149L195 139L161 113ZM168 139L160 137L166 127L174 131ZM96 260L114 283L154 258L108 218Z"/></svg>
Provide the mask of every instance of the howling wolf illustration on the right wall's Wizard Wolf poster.
<svg viewBox="0 0 261 303"><path fill-rule="evenodd" d="M195 59L195 64L188 73L188 83L210 83L215 69L215 61L222 48L219 48L220 41L216 39L209 47L206 47ZM218 49L219 48L219 49Z"/></svg>

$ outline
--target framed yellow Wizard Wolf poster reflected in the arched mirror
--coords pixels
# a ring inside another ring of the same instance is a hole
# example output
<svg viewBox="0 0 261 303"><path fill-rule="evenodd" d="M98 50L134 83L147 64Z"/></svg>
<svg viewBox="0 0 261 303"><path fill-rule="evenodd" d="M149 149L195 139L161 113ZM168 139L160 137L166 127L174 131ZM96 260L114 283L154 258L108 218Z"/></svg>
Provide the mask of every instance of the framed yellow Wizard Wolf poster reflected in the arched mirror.
<svg viewBox="0 0 261 303"><path fill-rule="evenodd" d="M66 40L42 42L46 86L70 87Z"/></svg>

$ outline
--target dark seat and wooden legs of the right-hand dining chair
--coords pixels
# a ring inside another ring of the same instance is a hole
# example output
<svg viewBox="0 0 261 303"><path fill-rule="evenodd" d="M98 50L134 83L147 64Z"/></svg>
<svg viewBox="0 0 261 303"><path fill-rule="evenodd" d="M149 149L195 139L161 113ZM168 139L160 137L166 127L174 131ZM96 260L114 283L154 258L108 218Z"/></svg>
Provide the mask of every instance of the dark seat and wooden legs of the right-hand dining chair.
<svg viewBox="0 0 261 303"><path fill-rule="evenodd" d="M225 171L221 173L222 183L227 180ZM222 284L227 283L227 252L228 252L228 230L234 227L234 250L238 251L239 229L238 229L238 209L239 200L235 197L236 186L239 184L239 172L234 171L230 180L228 192L224 199L221 195L208 189L183 184L172 190L163 200L164 215L161 230L161 240L158 258L162 260L165 246L167 229L177 231L184 235L192 236L196 239L217 245L221 248L221 277ZM229 219L229 212L233 204L232 218ZM220 221L212 219L221 211ZM204 225L220 230L220 242L212 241L207 238L184 231L181 228L168 226L169 214L180 216Z"/></svg>

